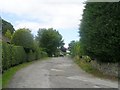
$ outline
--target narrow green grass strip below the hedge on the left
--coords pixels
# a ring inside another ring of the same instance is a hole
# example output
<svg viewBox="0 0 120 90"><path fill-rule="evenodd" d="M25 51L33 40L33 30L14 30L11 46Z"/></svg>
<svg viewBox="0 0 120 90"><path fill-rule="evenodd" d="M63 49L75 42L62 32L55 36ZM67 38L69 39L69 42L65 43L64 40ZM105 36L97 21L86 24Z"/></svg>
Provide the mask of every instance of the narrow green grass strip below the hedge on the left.
<svg viewBox="0 0 120 90"><path fill-rule="evenodd" d="M43 60L48 60L48 58L43 58L43 59L41 59L41 61L43 61ZM2 77L0 77L0 80L2 80L2 87L3 87L3 88L7 88L10 80L12 79L12 77L15 75L15 73L16 73L18 70L20 70L20 69L22 69L22 68L24 68L24 67L26 67L26 66L28 66L28 65L31 65L31 64L33 64L33 63L35 63L35 62L37 62L37 61L40 61L40 60L31 61L31 62L26 62L26 63L17 65L17 66L15 66L15 67L12 67L12 68L8 69L7 71L5 71L5 72L3 73L3 75L2 75Z"/></svg>

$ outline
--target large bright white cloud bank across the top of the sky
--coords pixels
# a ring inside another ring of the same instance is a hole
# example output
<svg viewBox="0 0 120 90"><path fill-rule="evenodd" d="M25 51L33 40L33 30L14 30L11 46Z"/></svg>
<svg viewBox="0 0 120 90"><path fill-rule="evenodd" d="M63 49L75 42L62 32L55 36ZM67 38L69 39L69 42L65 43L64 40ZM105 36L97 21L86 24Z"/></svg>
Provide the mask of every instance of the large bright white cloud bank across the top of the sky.
<svg viewBox="0 0 120 90"><path fill-rule="evenodd" d="M44 25L55 28L76 27L80 23L79 19L84 8L80 0L0 0L0 2L2 12L37 19L43 21ZM24 25L22 23L17 26Z"/></svg>

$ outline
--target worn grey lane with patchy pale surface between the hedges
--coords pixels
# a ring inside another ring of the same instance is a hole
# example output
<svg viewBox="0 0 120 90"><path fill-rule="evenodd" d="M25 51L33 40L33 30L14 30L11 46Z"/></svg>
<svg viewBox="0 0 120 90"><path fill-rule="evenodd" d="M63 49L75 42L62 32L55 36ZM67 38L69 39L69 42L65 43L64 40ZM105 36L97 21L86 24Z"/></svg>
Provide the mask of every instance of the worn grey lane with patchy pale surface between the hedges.
<svg viewBox="0 0 120 90"><path fill-rule="evenodd" d="M118 88L118 82L93 77L70 58L59 57L36 61L21 69L9 88Z"/></svg>

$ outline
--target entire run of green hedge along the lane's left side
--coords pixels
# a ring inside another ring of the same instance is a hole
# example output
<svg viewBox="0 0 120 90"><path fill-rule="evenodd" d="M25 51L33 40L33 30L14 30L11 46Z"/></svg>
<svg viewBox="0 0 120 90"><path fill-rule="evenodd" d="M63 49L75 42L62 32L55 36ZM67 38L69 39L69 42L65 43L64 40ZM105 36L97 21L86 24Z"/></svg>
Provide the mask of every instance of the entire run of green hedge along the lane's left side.
<svg viewBox="0 0 120 90"><path fill-rule="evenodd" d="M25 52L22 46L14 46L2 43L2 71L9 69L10 67L19 65L24 62L38 60L46 57L47 53L40 49L35 51L30 50L28 53Z"/></svg>

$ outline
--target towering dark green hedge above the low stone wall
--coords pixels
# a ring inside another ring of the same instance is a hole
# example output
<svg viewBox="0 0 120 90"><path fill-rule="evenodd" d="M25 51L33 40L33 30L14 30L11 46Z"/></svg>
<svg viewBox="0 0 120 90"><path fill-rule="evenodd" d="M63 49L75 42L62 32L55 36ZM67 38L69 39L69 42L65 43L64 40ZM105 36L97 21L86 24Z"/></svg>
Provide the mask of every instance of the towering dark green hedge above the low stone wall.
<svg viewBox="0 0 120 90"><path fill-rule="evenodd" d="M85 55L102 62L120 60L119 3L86 3L80 25Z"/></svg>

